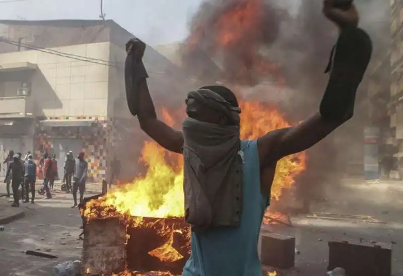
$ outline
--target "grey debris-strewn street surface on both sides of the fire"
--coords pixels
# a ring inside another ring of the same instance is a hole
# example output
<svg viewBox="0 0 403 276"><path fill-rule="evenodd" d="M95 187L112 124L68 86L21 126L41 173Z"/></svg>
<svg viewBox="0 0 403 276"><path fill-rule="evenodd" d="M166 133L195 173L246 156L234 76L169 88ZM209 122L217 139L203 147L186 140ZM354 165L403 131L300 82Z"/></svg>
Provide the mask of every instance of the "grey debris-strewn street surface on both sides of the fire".
<svg viewBox="0 0 403 276"><path fill-rule="evenodd" d="M293 228L274 226L273 230L296 237L300 254L296 268L279 271L280 276L320 276L327 267L327 241L340 239L393 242L393 276L403 275L403 218L401 218L400 183L379 185L364 183L353 187L338 186L338 193L329 190L329 197L316 207L315 212L370 215L383 223L357 220L326 220L301 216L293 219ZM0 185L0 192L4 185ZM90 194L88 194L90 195ZM330 196L332 195L332 196ZM377 196L376 196L377 195ZM5 198L0 198L5 200ZM5 225L0 232L1 275L46 276L53 265L80 258L82 241L81 218L77 209L71 209L70 194L55 193L53 199L38 199L36 204L21 204L25 217ZM49 260L28 256L26 250L40 250L58 256Z"/></svg>

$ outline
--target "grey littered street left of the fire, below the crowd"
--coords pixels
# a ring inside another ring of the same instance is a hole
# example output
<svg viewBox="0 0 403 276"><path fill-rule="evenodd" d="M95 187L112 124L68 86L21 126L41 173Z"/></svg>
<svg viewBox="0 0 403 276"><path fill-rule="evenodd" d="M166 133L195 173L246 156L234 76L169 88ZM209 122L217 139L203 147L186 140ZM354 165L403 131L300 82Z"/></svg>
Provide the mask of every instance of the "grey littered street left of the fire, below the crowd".
<svg viewBox="0 0 403 276"><path fill-rule="evenodd" d="M40 181L38 181L40 182ZM57 188L59 185L57 186ZM0 193L5 185L0 184ZM53 192L52 199L37 196L35 204L20 203L25 217L6 224L0 232L1 275L44 276L52 275L52 267L66 260L81 257L82 240L78 237L82 230L78 209L71 209L71 194ZM86 193L86 196L91 193ZM0 200L7 200L0 198ZM10 200L12 201L12 200ZM26 255L27 250L36 250L57 256L46 259Z"/></svg>

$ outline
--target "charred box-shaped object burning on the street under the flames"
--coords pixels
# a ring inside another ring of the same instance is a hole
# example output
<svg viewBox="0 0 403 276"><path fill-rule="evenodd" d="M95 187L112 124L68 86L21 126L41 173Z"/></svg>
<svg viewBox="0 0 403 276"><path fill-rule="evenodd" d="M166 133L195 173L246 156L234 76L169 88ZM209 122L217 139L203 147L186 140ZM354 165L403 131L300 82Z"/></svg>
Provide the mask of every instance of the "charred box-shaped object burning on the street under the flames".
<svg viewBox="0 0 403 276"><path fill-rule="evenodd" d="M86 218L82 262L88 275L180 275L189 256L190 227L183 218Z"/></svg>

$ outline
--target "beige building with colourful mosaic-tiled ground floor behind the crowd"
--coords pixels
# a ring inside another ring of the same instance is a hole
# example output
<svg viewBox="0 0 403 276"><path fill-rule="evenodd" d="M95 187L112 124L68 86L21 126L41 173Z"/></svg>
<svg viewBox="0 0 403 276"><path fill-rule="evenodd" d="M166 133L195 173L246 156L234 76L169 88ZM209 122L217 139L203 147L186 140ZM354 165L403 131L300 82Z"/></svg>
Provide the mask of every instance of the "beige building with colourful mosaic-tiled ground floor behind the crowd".
<svg viewBox="0 0 403 276"><path fill-rule="evenodd" d="M123 77L133 37L111 20L0 20L0 158L54 153L61 174L64 154L84 151L90 181L105 177L116 141L136 133L124 131L136 125ZM183 83L180 68L153 48L144 62L157 96Z"/></svg>

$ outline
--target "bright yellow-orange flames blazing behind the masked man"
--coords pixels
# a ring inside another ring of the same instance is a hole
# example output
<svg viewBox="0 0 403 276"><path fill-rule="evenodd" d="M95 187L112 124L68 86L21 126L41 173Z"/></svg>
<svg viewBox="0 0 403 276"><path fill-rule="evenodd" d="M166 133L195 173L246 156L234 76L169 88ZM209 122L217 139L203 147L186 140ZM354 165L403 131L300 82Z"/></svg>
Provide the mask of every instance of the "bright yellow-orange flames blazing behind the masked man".
<svg viewBox="0 0 403 276"><path fill-rule="evenodd" d="M277 110L267 108L259 102L241 102L240 106L243 140L256 139L268 131L291 125ZM168 124L174 125L173 117L166 110L163 111L163 117ZM165 237L166 243L149 254L161 261L176 261L183 256L172 247L173 235L175 232L182 233L183 229L167 228L163 222L148 225L142 218L184 216L183 158L166 151L156 142L146 141L141 162L148 168L144 176L89 201L83 215L88 220L120 217L132 227L158 228L159 235ZM295 176L304 168L305 153L280 160L272 185L272 198L280 199L283 189L290 188ZM270 217L279 215L282 214L270 214Z"/></svg>

